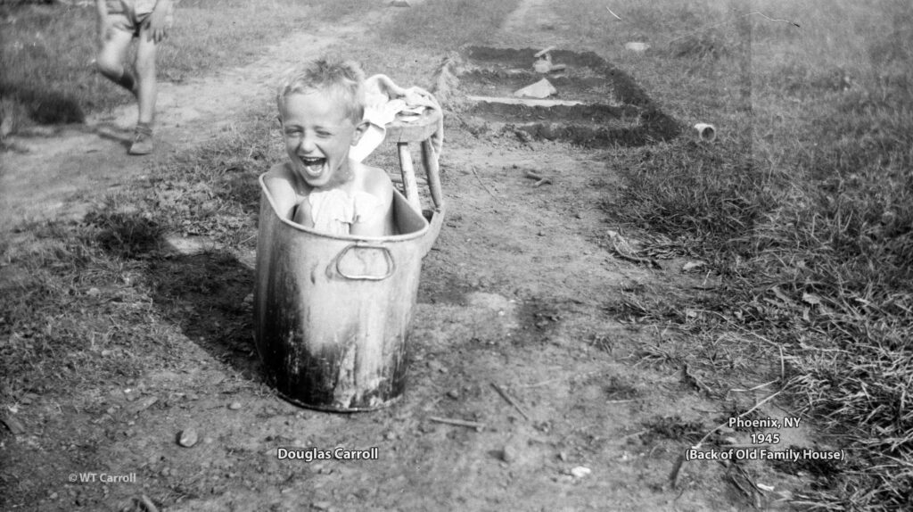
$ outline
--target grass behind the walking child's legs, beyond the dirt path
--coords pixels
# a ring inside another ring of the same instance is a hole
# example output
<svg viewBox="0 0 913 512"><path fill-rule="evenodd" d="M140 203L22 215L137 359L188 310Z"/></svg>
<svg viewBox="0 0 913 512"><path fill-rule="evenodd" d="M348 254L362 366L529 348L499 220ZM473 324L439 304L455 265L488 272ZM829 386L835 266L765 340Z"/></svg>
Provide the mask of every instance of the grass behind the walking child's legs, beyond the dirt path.
<svg viewBox="0 0 913 512"><path fill-rule="evenodd" d="M159 50L159 80L180 82L249 62L295 31L370 8L358 0L184 0ZM10 126L81 122L90 111L132 100L95 70L94 3L0 5L0 30L0 97L22 106L5 106L5 118L16 116Z"/></svg>

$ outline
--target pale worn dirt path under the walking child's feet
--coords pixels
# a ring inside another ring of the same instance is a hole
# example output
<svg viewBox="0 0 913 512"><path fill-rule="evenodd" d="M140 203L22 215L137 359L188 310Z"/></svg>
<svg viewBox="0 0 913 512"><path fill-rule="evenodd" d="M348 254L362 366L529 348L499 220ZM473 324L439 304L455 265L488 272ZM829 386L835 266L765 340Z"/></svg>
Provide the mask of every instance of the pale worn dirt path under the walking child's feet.
<svg viewBox="0 0 913 512"><path fill-rule="evenodd" d="M378 13L383 16L383 11ZM253 64L163 82L156 109L158 147L147 157L126 154L136 122L129 105L89 116L84 125L61 127L47 136L12 137L21 151L4 154L0 169L0 230L23 220L81 218L100 193L130 183L153 163L215 137L236 112L273 94L279 73L300 60L302 47L314 55L363 33L358 20L289 37L268 47Z"/></svg>

